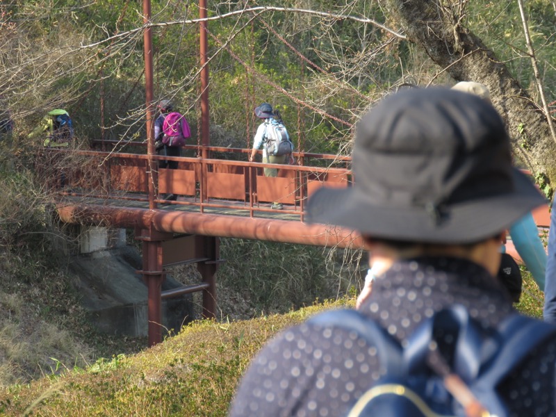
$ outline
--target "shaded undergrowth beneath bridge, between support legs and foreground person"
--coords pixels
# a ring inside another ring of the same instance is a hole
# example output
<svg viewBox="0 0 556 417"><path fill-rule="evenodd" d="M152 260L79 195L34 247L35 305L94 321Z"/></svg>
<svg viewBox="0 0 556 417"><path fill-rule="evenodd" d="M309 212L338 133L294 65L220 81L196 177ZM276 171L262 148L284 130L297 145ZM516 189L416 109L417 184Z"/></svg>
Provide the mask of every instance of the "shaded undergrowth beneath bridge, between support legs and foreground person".
<svg viewBox="0 0 556 417"><path fill-rule="evenodd" d="M367 268L359 250L223 238L220 253L226 262L217 272L219 304L231 295L251 317L357 293Z"/></svg>

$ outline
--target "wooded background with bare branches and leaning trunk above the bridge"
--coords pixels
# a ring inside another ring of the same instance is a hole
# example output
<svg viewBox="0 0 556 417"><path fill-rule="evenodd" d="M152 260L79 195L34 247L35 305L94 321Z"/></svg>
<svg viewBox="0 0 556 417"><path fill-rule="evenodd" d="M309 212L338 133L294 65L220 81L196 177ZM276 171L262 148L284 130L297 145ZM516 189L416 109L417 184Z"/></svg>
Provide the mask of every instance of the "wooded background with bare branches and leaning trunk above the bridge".
<svg viewBox="0 0 556 417"><path fill-rule="evenodd" d="M477 81L507 122L516 163L551 197L555 0L207 3L212 145L250 147L253 109L268 101L298 149L349 154L361 114L401 85ZM186 115L193 142L198 17L196 2L152 1L155 97ZM17 147L38 145L26 134L59 107L85 143L145 140L144 28L137 0L3 1L0 113L15 120Z"/></svg>

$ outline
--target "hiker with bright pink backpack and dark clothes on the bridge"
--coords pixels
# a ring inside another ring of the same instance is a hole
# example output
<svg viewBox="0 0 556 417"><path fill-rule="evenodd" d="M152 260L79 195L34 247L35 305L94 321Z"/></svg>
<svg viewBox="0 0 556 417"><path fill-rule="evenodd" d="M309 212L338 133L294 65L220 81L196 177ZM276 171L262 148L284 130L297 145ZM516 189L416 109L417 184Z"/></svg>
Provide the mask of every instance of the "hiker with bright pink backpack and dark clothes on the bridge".
<svg viewBox="0 0 556 417"><path fill-rule="evenodd" d="M156 154L161 156L181 156L181 147L186 144L186 139L190 138L191 131L189 124L183 115L174 111L174 106L170 100L161 100L158 103L160 115L154 121L154 144ZM159 168L176 170L177 161L158 161ZM165 200L176 200L177 195L168 194Z"/></svg>

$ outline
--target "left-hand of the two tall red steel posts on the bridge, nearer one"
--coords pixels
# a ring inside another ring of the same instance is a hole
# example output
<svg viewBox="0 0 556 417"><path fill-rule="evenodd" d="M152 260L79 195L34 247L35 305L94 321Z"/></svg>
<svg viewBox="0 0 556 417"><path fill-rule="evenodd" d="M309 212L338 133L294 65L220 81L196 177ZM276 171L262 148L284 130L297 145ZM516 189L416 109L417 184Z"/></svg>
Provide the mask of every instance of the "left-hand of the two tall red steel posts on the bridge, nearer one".
<svg viewBox="0 0 556 417"><path fill-rule="evenodd" d="M148 24L151 20L151 1L143 0L143 23ZM149 162L147 166L147 174L149 181L149 209L156 208L154 201L158 189L158 168L155 167L158 161L152 160L154 149L154 88L153 88L153 70L152 70L152 30L150 27L145 28L143 34L144 54L145 54L145 102L147 104L147 153Z"/></svg>

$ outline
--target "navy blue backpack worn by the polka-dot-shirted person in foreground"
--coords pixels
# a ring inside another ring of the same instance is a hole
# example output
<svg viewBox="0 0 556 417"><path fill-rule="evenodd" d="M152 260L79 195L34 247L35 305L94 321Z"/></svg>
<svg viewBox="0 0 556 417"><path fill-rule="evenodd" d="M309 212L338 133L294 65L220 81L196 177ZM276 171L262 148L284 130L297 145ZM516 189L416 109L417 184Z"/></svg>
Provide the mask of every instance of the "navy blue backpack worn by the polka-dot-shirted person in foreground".
<svg viewBox="0 0 556 417"><path fill-rule="evenodd" d="M363 393L348 417L509 416L498 384L534 347L556 334L555 326L517 313L485 330L461 305L425 320L405 348L355 310L327 311L309 323L357 332L377 348L384 376ZM448 347L446 338L455 343Z"/></svg>

